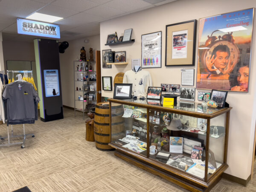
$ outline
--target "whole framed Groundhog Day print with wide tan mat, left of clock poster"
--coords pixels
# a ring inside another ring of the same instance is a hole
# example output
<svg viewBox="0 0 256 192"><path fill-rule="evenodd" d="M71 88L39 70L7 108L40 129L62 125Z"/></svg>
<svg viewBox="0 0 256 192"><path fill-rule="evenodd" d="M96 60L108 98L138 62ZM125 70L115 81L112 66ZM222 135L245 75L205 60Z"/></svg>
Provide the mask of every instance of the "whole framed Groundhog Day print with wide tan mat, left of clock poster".
<svg viewBox="0 0 256 192"><path fill-rule="evenodd" d="M195 65L196 20L166 25L165 66Z"/></svg>

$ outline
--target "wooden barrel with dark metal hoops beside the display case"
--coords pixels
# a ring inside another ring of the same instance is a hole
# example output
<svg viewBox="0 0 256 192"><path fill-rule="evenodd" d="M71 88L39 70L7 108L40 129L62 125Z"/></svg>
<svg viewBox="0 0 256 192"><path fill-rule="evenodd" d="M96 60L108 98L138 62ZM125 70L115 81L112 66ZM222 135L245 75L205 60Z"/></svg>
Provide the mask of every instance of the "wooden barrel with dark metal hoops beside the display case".
<svg viewBox="0 0 256 192"><path fill-rule="evenodd" d="M112 134L120 133L124 129L124 113L121 104L112 103L111 131ZM96 148L102 151L112 151L114 148L108 145L110 140L110 118L109 118L109 102L100 102L96 104L94 115L94 139Z"/></svg>

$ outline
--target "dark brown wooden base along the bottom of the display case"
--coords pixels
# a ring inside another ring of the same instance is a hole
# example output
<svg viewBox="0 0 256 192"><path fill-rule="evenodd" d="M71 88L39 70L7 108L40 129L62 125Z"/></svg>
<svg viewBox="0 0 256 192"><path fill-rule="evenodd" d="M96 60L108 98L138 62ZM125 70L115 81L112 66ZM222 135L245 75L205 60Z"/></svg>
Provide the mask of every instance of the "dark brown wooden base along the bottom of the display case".
<svg viewBox="0 0 256 192"><path fill-rule="evenodd" d="M165 172L164 170L158 169L157 163L156 164L148 164L147 162L145 162L143 160L131 157L129 154L126 154L124 151L119 150L118 148L116 148L115 155L116 155L116 157L119 157L122 160L125 160L128 163L133 164L134 166L137 166L141 169L144 169L147 172L150 172L154 175L162 177L163 179L166 179L169 182L172 182L172 183L174 183L186 190L192 191L192 192L208 192L208 191L210 191L219 182L219 180L221 180L222 173L228 167L227 165L225 165L223 167L224 169L218 173L218 177L212 178L210 180L210 182L208 182L208 183L202 182L202 185L201 185L200 183L197 183L196 181L193 182L192 180L187 180L186 178L183 178L180 175L175 175L171 172L168 173L168 172Z"/></svg>

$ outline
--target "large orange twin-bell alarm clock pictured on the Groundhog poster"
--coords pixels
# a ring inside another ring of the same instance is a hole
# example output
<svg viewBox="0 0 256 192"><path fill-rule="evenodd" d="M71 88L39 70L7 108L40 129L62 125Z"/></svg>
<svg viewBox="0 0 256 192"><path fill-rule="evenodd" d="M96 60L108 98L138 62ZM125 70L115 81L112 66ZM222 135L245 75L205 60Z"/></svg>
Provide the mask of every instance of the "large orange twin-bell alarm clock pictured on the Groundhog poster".
<svg viewBox="0 0 256 192"><path fill-rule="evenodd" d="M218 30L216 30L216 31L218 31ZM214 31L214 32L216 32L216 31ZM212 32L212 34L214 32ZM234 44L234 41L235 41L235 38L233 37L232 32L231 33L228 32L228 34L225 34L222 37L221 37L221 35L219 35L218 38L216 36L212 36L212 35L211 35L211 37L209 37L209 35L208 35L208 39L204 45L204 52L202 53L202 57L201 57L201 62L204 65L204 68L207 69L210 73L212 73L213 68L207 67L207 61L211 60L213 50L215 49L215 47L222 45L222 46L227 46L229 48L229 51L230 51L229 60L227 62L227 66L224 67L223 70L221 70L221 73L219 73L219 74L214 73L214 74L215 75L225 75L225 74L233 71L234 67L236 66L236 64L239 61L239 49L236 46L236 44ZM214 64L212 66L214 66ZM214 68L217 68L217 67L215 66Z"/></svg>

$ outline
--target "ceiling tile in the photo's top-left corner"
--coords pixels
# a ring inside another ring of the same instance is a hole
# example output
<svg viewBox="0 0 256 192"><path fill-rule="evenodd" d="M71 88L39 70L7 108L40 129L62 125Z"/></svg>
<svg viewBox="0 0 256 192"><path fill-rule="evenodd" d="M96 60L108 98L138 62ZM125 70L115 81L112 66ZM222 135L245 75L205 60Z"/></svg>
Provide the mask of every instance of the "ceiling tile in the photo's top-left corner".
<svg viewBox="0 0 256 192"><path fill-rule="evenodd" d="M31 0L2 0L0 2L0 13L15 17L27 17L45 5L47 4Z"/></svg>

